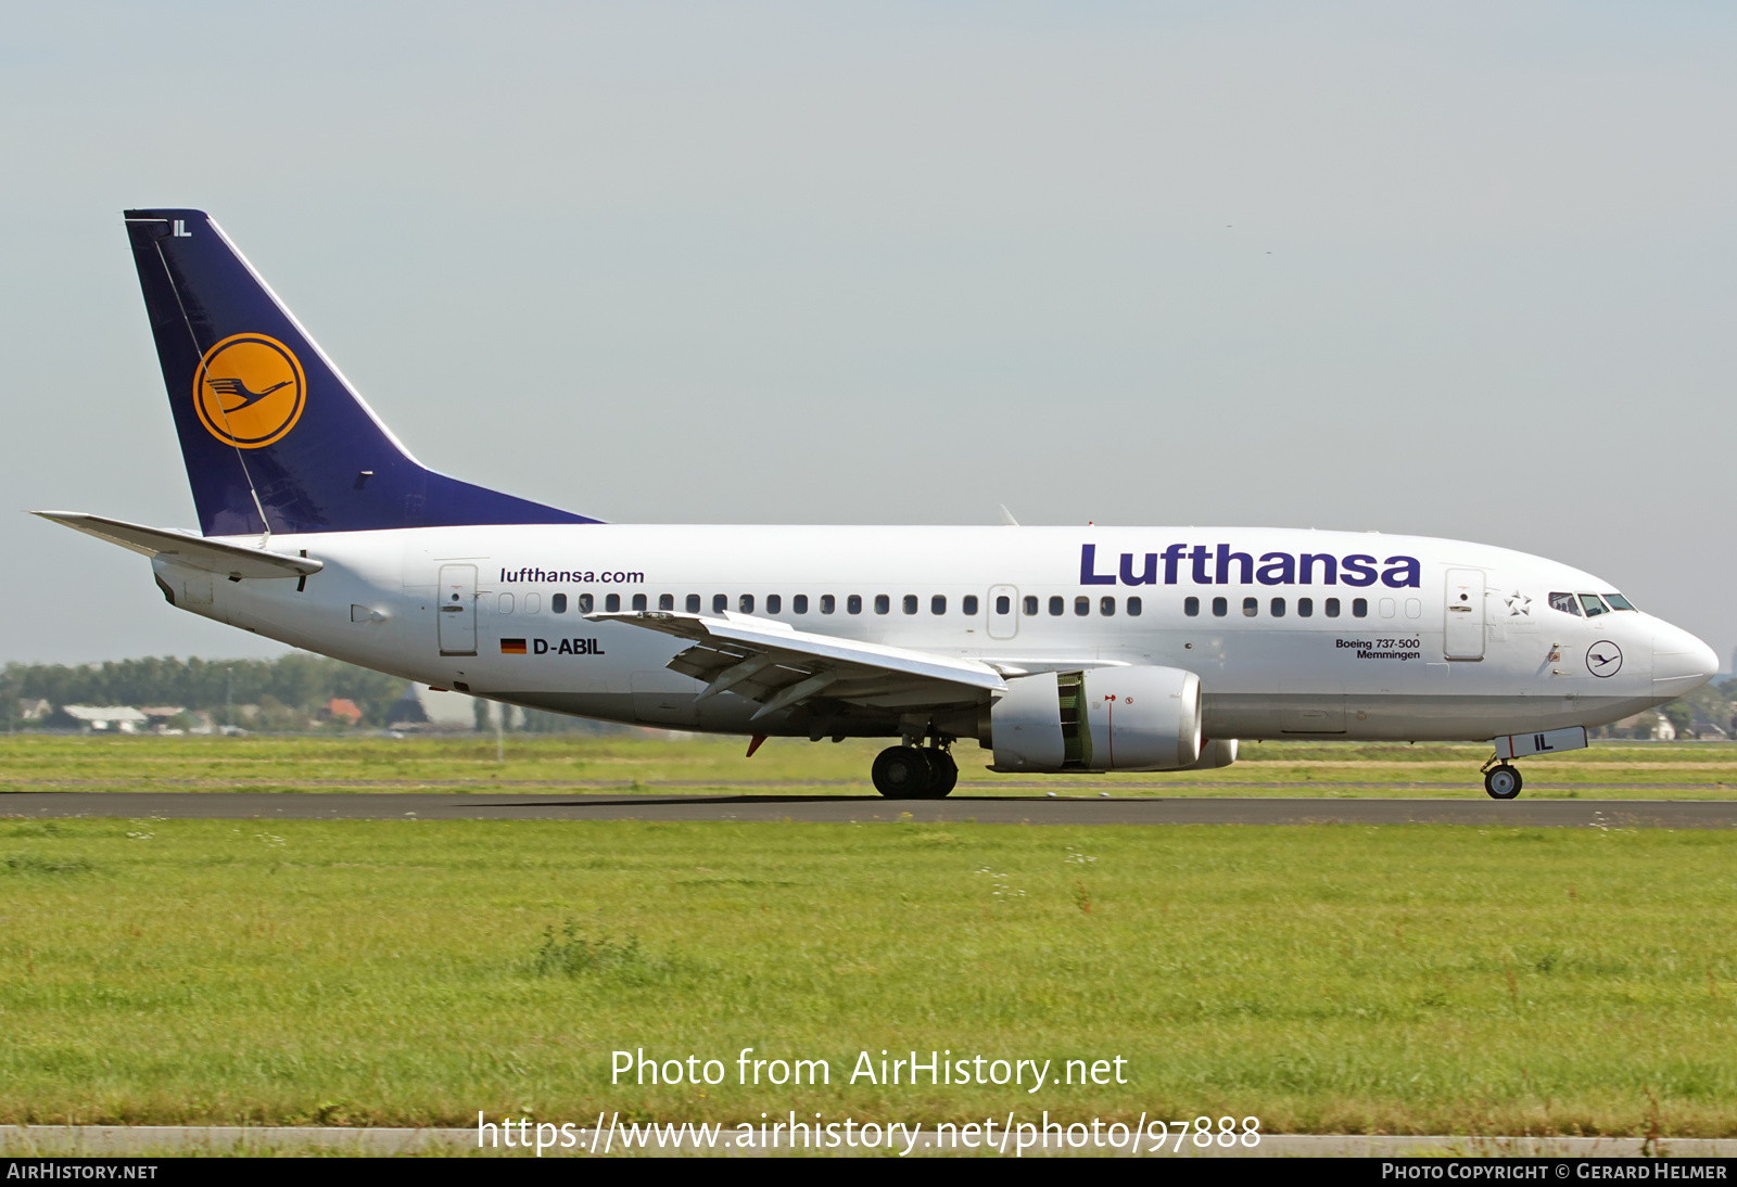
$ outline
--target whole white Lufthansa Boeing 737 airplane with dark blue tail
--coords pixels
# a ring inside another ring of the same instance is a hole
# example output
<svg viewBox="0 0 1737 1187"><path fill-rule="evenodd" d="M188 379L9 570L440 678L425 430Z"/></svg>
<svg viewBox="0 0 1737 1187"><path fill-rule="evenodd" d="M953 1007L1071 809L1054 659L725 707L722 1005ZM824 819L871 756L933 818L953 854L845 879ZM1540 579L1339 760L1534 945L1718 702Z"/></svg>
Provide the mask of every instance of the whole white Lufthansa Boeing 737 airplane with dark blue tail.
<svg viewBox="0 0 1737 1187"><path fill-rule="evenodd" d="M608 524L400 444L217 224L129 210L200 531L35 512L175 607L505 705L896 739L889 798L1002 772L1204 771L1238 739L1579 750L1718 658L1608 581L1454 540L1278 528ZM1011 521L1011 515L1007 517Z"/></svg>

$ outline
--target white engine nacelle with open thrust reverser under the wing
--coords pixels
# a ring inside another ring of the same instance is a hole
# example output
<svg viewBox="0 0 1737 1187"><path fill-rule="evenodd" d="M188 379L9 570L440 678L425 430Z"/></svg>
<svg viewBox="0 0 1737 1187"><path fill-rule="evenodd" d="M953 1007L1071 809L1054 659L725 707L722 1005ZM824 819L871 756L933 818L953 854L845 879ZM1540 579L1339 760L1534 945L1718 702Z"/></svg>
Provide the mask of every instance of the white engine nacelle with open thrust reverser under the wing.
<svg viewBox="0 0 1737 1187"><path fill-rule="evenodd" d="M1200 677L1091 668L1007 680L990 708L992 771L1183 771L1200 760ZM1235 743L1230 760L1235 758ZM1225 765L1223 753L1212 755Z"/></svg>

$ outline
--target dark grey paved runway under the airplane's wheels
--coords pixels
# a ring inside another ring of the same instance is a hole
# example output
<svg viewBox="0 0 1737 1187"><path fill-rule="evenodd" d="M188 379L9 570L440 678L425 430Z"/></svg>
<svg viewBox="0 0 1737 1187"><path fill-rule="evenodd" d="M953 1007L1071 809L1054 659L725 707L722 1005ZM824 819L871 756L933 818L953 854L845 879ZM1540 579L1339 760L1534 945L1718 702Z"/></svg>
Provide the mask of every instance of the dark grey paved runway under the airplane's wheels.
<svg viewBox="0 0 1737 1187"><path fill-rule="evenodd" d="M924 821L980 824L1476 824L1737 828L1737 800L1454 800L877 795L464 795L307 791L10 791L0 817Z"/></svg>

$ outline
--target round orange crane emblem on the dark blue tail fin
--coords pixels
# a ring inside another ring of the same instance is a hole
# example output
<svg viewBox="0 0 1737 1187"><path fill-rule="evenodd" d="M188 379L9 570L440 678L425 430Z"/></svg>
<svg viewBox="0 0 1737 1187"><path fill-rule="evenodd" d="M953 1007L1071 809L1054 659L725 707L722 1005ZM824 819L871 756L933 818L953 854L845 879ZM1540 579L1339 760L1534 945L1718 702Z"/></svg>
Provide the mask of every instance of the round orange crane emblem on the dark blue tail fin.
<svg viewBox="0 0 1737 1187"><path fill-rule="evenodd" d="M262 333L234 333L193 373L193 406L205 430L236 449L261 449L295 427L307 377L295 352Z"/></svg>

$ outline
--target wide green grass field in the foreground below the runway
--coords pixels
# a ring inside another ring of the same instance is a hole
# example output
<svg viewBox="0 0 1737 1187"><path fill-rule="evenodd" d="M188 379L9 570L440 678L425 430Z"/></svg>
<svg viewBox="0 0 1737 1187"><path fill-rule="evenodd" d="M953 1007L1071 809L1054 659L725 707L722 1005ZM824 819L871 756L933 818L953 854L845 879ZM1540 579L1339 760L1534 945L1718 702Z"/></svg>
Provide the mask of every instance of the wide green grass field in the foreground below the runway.
<svg viewBox="0 0 1737 1187"><path fill-rule="evenodd" d="M1734 908L1716 831L10 819L0 1121L1730 1137ZM1131 1083L841 1083L882 1048Z"/></svg>

